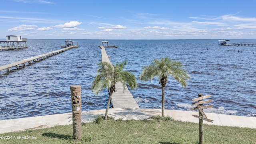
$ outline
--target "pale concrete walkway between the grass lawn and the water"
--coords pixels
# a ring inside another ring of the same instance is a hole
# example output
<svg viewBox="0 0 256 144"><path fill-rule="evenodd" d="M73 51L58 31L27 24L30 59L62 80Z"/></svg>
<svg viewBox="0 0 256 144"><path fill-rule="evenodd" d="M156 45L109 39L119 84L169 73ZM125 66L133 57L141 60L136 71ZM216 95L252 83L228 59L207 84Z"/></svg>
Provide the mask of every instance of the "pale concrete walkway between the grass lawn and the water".
<svg viewBox="0 0 256 144"><path fill-rule="evenodd" d="M164 110L165 116L170 116L174 120L183 122L198 123L198 118L192 114L198 115L196 111L182 110ZM82 112L82 122L93 122L94 119L105 114L105 109L90 110ZM143 120L150 116L161 115L161 109L145 109L145 108L110 108L108 116L123 120ZM214 124L218 126L238 126L244 128L256 128L256 117L233 116L226 114L205 113L207 117L214 120L213 123L204 121L204 124ZM21 130L48 128L57 125L72 124L72 112L66 114L53 114L46 116L36 116L29 118L17 118L12 120L0 120L0 134L6 132L16 132Z"/></svg>

